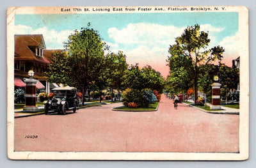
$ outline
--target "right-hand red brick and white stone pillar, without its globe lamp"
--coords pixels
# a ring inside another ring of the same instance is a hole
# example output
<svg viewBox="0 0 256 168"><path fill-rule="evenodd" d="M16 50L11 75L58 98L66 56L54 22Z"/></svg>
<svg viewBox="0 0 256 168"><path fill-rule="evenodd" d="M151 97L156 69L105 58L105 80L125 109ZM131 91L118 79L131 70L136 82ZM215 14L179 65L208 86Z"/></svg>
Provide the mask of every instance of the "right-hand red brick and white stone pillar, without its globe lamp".
<svg viewBox="0 0 256 168"><path fill-rule="evenodd" d="M210 106L211 110L221 110L220 86L221 84L217 82L212 84L212 105Z"/></svg>

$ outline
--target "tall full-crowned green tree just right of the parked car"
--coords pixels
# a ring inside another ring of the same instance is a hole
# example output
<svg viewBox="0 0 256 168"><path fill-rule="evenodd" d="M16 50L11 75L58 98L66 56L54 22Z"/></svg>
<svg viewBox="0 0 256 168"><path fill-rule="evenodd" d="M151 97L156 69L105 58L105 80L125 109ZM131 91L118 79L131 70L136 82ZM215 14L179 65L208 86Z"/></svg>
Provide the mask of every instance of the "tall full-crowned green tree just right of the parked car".
<svg viewBox="0 0 256 168"><path fill-rule="evenodd" d="M70 54L74 84L82 90L84 104L84 91L92 83L93 73L97 73L96 65L102 63L104 58L104 43L98 31L82 27L81 31L75 30L68 36L68 42L64 44Z"/></svg>

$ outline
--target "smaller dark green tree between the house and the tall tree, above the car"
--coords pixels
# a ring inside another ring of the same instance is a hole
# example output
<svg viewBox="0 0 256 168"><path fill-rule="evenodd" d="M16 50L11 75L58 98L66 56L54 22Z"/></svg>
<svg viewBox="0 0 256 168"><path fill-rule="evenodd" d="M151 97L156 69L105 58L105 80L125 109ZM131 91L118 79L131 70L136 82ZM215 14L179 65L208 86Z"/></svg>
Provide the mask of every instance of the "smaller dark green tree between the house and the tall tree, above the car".
<svg viewBox="0 0 256 168"><path fill-rule="evenodd" d="M58 86L60 86L60 84L72 85L72 80L70 78L71 67L69 57L66 52L52 52L51 63L47 72L45 72L45 75L49 82L56 83Z"/></svg>

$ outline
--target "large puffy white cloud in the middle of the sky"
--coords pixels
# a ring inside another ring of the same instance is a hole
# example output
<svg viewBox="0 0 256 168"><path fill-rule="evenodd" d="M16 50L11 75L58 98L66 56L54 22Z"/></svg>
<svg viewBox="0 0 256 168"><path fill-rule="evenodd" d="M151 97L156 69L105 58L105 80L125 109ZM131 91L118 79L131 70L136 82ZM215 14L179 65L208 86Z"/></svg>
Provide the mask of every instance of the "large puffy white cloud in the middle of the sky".
<svg viewBox="0 0 256 168"><path fill-rule="evenodd" d="M156 45L168 46L183 30L184 27L138 23L128 24L121 30L111 27L108 29L108 34L109 38L112 38L116 43L154 47Z"/></svg>

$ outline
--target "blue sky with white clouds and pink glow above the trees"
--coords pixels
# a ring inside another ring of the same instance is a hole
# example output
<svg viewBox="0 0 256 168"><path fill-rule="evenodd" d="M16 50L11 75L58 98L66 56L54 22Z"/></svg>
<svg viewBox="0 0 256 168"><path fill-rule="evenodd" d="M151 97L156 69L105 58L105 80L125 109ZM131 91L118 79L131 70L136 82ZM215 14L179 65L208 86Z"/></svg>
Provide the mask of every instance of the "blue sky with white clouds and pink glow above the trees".
<svg viewBox="0 0 256 168"><path fill-rule="evenodd" d="M111 52L122 50L129 65L150 65L163 77L169 73L166 59L170 45L186 27L195 24L209 33L209 48L220 45L225 49L223 63L231 66L232 59L240 56L237 12L15 15L15 34L43 34L46 49L63 49L68 36L88 22Z"/></svg>

